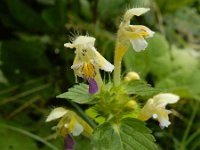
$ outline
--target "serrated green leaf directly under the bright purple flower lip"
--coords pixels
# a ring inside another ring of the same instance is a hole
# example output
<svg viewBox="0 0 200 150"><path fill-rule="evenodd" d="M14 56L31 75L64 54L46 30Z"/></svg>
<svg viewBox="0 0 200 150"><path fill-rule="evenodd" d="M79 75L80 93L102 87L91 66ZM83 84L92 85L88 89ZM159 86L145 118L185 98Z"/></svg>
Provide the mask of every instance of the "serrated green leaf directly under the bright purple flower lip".
<svg viewBox="0 0 200 150"><path fill-rule="evenodd" d="M75 85L68 92L58 95L57 98L70 99L79 104L90 104L94 100L94 96L88 92L88 85L83 83Z"/></svg>

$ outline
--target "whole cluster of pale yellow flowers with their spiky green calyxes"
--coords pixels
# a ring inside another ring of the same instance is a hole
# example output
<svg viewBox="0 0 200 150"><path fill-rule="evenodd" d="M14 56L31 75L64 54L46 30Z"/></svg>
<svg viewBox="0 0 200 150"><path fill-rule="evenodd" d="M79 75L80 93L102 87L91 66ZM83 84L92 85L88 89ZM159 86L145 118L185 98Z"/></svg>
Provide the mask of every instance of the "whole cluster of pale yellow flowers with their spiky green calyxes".
<svg viewBox="0 0 200 150"><path fill-rule="evenodd" d="M66 98L73 100L77 98L77 95L79 97L87 95L86 98L92 97L93 101L85 102L85 104L91 105L86 110L86 113L98 124L117 122L124 118L147 121L151 117L158 120L161 128L168 127L171 124L168 117L171 111L166 109L166 105L178 102L179 96L172 93L157 93L142 106L137 97L137 90L134 89L137 83L143 83L140 82L139 74L129 72L124 79L121 79L122 58L129 46L132 46L136 52L145 50L148 45L145 38L150 38L154 35L154 32L146 26L130 24L133 16L140 16L147 11L149 11L149 8L133 8L126 11L117 32L114 65L97 51L94 46L96 40L94 37L77 36L70 43L64 44L66 48L75 50L75 58L71 69L74 70L76 81L77 77L81 77L89 84L87 86L89 94L74 88L73 92L75 92L76 96L71 95L69 92L70 97ZM105 81L103 82L100 69L109 73L114 71L113 82L112 79L107 84ZM144 87L144 84L142 86L139 85L140 87ZM142 89L139 90L139 92L141 91ZM79 104L82 104L82 102ZM89 125L72 110L63 107L55 108L46 121L58 119L58 124L54 129L65 138L66 149L74 149L73 136L82 134L90 138L93 134L91 124Z"/></svg>

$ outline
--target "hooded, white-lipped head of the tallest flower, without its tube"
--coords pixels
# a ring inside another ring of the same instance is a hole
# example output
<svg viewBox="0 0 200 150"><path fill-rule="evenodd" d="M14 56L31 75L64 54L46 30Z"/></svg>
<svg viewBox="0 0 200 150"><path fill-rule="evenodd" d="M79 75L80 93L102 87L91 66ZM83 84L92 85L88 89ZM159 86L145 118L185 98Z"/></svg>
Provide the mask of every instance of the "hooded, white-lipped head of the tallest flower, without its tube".
<svg viewBox="0 0 200 150"><path fill-rule="evenodd" d="M126 42L124 44L127 44L127 40L129 40L133 49L136 52L145 50L148 43L145 41L144 38L152 37L154 35L154 32L143 25L130 25L130 20L134 15L140 16L149 10L149 8L129 9L125 13L124 19L119 27L119 39L121 39L123 42Z"/></svg>

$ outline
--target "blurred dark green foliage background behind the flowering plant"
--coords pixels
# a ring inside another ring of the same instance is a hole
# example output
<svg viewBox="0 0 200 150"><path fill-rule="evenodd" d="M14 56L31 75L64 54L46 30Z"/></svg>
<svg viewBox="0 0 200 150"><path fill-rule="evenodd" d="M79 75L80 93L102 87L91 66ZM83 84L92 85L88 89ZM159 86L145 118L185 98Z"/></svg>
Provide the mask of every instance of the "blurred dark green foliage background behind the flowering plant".
<svg viewBox="0 0 200 150"><path fill-rule="evenodd" d="M146 51L130 48L123 71L137 71L152 86L181 96L168 129L153 120L148 126L160 149L200 149L200 0L1 0L1 150L63 149L62 138L52 135L55 123L45 123L51 108L75 109L55 99L75 83L74 50L63 44L89 34L113 63L118 25L132 7L151 8L132 24L156 34ZM77 149L83 150L87 141L78 140Z"/></svg>

